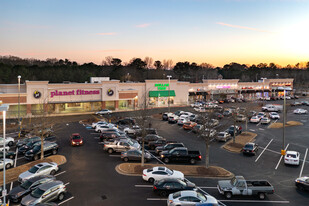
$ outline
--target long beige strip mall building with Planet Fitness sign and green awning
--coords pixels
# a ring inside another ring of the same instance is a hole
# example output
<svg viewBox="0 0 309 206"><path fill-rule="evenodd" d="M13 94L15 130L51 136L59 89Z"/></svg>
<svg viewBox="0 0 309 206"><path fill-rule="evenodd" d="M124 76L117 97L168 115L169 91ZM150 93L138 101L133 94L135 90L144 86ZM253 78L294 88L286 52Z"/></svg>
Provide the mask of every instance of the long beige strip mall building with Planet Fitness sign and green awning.
<svg viewBox="0 0 309 206"><path fill-rule="evenodd" d="M173 106L188 105L195 100L244 97L254 100L262 96L283 95L293 91L293 79L264 79L259 82L239 82L238 79L207 79L202 83L181 82L175 79L120 82L93 77L90 83L49 83L25 81L0 85L0 101L9 104L8 115L17 117L49 113L82 113L100 109L130 110L147 102L149 107L164 107L168 98ZM20 91L20 92L19 92ZM42 106L44 105L44 106Z"/></svg>

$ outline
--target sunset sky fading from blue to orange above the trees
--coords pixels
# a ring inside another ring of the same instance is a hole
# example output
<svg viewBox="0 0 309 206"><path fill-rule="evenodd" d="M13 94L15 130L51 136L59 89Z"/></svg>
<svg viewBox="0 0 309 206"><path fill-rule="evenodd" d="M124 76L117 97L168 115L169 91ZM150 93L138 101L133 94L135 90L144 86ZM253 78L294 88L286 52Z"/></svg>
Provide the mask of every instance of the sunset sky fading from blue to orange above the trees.
<svg viewBox="0 0 309 206"><path fill-rule="evenodd" d="M307 0L0 0L0 55L309 61Z"/></svg>

